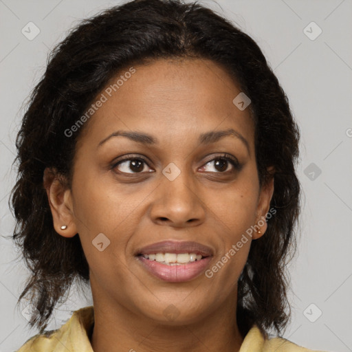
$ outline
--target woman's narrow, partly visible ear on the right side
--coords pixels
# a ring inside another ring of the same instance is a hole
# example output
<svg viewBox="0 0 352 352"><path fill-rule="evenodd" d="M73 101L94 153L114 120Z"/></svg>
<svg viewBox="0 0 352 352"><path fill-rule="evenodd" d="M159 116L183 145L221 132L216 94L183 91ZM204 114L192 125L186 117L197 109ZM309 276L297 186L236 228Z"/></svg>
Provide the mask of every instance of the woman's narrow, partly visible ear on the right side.
<svg viewBox="0 0 352 352"><path fill-rule="evenodd" d="M270 201L274 193L274 166L267 168L270 178L262 185L259 193L258 206L256 208L256 222L254 228L258 229L253 233L252 239L259 239L267 230L267 222L265 217L270 208ZM260 234L258 232L261 232Z"/></svg>

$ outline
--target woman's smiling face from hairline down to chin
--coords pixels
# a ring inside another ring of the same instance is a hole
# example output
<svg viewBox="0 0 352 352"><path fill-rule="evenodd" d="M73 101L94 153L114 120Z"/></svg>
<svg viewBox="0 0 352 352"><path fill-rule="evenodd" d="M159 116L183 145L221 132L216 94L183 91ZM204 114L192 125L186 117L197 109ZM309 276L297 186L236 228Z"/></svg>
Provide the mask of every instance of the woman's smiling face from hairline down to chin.
<svg viewBox="0 0 352 352"><path fill-rule="evenodd" d="M175 325L235 309L246 231L267 213L273 190L259 188L249 107L232 102L241 90L212 61L133 68L111 80L85 122L63 198L69 228L58 232L78 232L95 305Z"/></svg>

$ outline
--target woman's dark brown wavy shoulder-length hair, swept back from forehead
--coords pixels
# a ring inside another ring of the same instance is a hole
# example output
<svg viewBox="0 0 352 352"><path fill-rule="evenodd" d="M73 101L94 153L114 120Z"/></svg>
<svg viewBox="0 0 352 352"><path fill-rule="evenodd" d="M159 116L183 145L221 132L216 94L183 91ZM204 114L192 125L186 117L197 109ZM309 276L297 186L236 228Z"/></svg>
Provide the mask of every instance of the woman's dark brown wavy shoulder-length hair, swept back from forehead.
<svg viewBox="0 0 352 352"><path fill-rule="evenodd" d="M123 68L160 58L206 58L223 67L250 97L255 151L262 186L272 177L274 194L261 239L252 241L238 282L237 323L243 336L253 324L268 336L283 332L291 309L286 265L296 252L300 213L299 129L285 92L259 46L229 20L199 3L135 0L83 20L52 50L43 78L32 91L17 135L17 183L10 203L17 225L13 239L32 275L19 298L30 297L30 325L41 332L53 309L78 279L89 283L89 267L78 234L54 230L43 187L45 168L70 186L76 141L83 128L65 135Z"/></svg>

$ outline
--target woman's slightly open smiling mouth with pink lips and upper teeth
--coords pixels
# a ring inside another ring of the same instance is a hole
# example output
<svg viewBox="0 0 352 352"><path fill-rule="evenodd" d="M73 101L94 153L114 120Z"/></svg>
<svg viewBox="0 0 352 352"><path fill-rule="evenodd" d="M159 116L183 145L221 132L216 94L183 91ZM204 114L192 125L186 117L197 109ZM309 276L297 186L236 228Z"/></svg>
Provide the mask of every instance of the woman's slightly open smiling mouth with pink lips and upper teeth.
<svg viewBox="0 0 352 352"><path fill-rule="evenodd" d="M211 248L197 242L163 241L136 253L144 269L170 283L190 281L206 270L213 256Z"/></svg>

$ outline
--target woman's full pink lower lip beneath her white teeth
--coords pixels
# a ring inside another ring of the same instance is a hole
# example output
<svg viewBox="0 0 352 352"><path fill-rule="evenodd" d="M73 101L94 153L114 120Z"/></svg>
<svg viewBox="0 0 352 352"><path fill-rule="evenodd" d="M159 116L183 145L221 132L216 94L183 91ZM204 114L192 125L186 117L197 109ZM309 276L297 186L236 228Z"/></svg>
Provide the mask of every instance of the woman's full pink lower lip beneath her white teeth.
<svg viewBox="0 0 352 352"><path fill-rule="evenodd" d="M192 261L187 264L167 265L157 261L149 261L144 256L138 256L137 258L148 272L169 283L183 283L196 278L206 270L211 259L210 256L207 256L199 261Z"/></svg>

